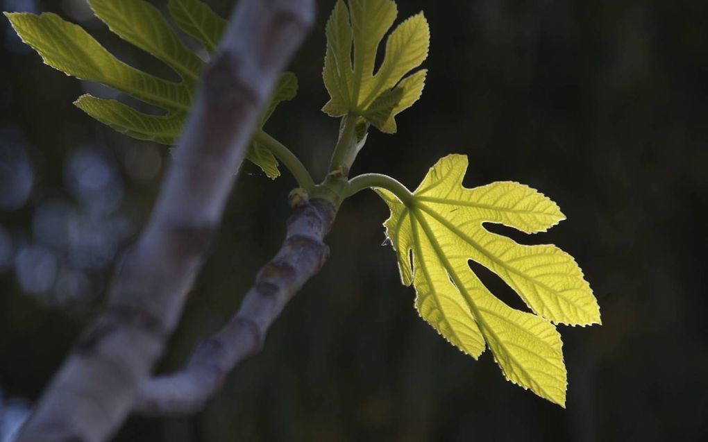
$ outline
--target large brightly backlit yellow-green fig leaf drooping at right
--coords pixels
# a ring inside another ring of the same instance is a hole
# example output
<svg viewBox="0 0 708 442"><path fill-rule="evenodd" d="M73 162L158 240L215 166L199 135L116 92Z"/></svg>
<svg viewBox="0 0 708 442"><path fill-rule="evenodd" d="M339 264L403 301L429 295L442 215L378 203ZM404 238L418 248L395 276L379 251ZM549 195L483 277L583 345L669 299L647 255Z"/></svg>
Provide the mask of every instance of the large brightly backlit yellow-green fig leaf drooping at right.
<svg viewBox="0 0 708 442"><path fill-rule="evenodd" d="M486 343L508 380L564 405L566 368L554 323L598 324L598 303L566 252L554 245L520 245L483 225L537 233L564 215L549 198L516 182L467 189L466 170L466 156L442 158L408 204L377 189L391 209L384 226L401 279L415 287L421 317L450 343L475 359ZM493 296L470 260L498 274L533 313Z"/></svg>

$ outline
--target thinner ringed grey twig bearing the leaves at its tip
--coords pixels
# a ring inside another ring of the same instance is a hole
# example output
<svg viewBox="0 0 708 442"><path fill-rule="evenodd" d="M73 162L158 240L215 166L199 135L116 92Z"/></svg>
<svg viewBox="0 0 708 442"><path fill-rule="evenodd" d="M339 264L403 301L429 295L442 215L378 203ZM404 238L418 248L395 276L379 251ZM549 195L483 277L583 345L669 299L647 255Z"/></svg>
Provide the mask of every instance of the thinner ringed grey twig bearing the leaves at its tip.
<svg viewBox="0 0 708 442"><path fill-rule="evenodd" d="M261 349L275 318L322 267L329 255L322 240L334 214L334 207L325 199L300 200L287 221L282 248L258 272L238 313L198 345L183 371L147 380L137 395L135 411L165 415L202 409L229 371Z"/></svg>

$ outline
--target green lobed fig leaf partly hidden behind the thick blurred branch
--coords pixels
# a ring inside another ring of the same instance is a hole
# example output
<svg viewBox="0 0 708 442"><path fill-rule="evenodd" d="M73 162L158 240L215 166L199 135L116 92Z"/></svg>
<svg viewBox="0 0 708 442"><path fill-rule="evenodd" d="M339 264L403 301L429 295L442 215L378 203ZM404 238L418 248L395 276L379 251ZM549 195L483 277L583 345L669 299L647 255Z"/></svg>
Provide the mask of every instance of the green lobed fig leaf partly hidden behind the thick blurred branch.
<svg viewBox="0 0 708 442"><path fill-rule="evenodd" d="M96 120L133 138L175 144L193 100L196 82L205 62L178 39L162 14L145 0L89 0L93 12L113 33L170 66L181 76L179 83L147 74L129 66L79 25L53 13L5 13L23 42L33 47L44 62L65 74L95 81L159 107L164 115L148 115L118 100L82 95L74 104ZM215 50L225 21L200 0L170 0L170 14L185 33ZM263 112L260 127L278 103L291 100L297 78L282 74L273 98ZM260 128L259 127L259 128ZM278 161L268 149L255 143L246 151L270 178L280 175Z"/></svg>

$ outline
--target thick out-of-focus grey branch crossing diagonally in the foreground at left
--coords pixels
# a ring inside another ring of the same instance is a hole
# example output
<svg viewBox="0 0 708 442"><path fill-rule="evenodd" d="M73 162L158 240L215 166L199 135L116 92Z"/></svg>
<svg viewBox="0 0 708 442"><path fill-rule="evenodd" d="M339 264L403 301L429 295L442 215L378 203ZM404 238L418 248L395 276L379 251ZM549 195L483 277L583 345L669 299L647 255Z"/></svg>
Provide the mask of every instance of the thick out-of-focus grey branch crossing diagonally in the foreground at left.
<svg viewBox="0 0 708 442"><path fill-rule="evenodd" d="M79 340L18 441L104 441L122 424L181 315L273 84L314 21L314 0L240 0L108 308Z"/></svg>

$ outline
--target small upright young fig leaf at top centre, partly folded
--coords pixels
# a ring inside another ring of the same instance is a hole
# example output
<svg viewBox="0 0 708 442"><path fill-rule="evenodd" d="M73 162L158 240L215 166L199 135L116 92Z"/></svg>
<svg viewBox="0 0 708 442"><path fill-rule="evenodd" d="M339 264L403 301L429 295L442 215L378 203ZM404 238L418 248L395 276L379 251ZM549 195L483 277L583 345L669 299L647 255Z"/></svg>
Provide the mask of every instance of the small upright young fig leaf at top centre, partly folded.
<svg viewBox="0 0 708 442"><path fill-rule="evenodd" d="M391 0L350 0L348 8L337 1L326 26L323 77L330 100L322 110L328 115L355 112L382 132L394 133L394 117L420 98L426 71L404 76L428 57L430 30L422 12L389 35L384 60L374 72L379 44L396 15Z"/></svg>

